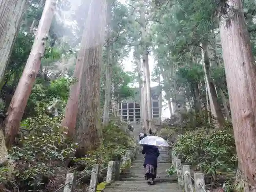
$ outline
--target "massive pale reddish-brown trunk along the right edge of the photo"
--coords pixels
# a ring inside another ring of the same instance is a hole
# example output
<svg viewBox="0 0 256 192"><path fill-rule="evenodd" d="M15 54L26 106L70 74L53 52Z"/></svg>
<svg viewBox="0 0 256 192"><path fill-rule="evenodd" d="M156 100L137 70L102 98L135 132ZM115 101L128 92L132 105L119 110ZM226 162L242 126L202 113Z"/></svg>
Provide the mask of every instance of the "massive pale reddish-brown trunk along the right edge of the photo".
<svg viewBox="0 0 256 192"><path fill-rule="evenodd" d="M230 110L238 160L242 172L256 186L256 66L241 0L227 1L232 7L220 22ZM231 18L231 19L230 19Z"/></svg>

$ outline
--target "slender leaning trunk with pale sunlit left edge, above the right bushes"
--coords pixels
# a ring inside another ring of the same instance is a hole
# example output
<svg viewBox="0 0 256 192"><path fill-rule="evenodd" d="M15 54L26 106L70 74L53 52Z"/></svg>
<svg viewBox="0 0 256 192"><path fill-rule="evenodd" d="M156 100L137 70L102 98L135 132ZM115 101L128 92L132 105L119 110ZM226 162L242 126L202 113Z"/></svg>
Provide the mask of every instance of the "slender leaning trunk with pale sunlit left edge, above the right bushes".
<svg viewBox="0 0 256 192"><path fill-rule="evenodd" d="M212 82L212 79L210 77L210 60L209 60L209 53L208 53L208 42L204 41L201 44L202 47L202 57L203 57L203 64L204 64L204 73L205 73L205 79L206 79L206 86L208 90L208 96L210 100L210 109L213 116L217 118L217 127L222 127L225 123L224 116L221 111L221 106L218 103L218 97L215 90L214 82Z"/></svg>

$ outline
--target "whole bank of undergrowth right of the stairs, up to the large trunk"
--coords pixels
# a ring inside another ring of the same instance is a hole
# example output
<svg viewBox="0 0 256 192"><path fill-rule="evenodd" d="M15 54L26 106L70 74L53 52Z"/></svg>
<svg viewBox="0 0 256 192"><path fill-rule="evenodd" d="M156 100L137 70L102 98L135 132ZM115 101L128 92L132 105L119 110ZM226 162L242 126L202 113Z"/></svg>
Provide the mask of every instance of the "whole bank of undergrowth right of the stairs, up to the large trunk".
<svg viewBox="0 0 256 192"><path fill-rule="evenodd" d="M206 121L200 120L202 122ZM190 165L192 173L200 171L205 174L205 182L210 188L225 184L224 190L232 191L238 159L231 124L226 123L221 129L211 123L195 126L198 124L194 118L182 126L169 125L163 129L162 135L167 135L172 151L182 163ZM170 167L166 173L175 174L175 167Z"/></svg>

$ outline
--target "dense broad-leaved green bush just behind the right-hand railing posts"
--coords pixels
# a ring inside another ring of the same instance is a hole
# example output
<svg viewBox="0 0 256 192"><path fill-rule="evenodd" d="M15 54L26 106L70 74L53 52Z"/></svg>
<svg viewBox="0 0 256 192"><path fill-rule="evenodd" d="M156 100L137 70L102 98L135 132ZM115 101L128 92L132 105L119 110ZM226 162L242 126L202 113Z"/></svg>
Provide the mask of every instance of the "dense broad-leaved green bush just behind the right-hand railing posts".
<svg viewBox="0 0 256 192"><path fill-rule="evenodd" d="M214 130L207 134L202 128L179 135L174 151L185 162L200 166L206 174L236 170L236 145L230 129Z"/></svg>

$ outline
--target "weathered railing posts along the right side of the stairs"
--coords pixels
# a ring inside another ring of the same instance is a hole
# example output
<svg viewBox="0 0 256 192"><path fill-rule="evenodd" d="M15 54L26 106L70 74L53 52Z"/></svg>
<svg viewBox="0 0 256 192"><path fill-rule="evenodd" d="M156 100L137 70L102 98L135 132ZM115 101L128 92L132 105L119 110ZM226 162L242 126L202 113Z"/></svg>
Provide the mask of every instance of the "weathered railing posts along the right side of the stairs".
<svg viewBox="0 0 256 192"><path fill-rule="evenodd" d="M190 166L182 165L181 160L174 153L172 153L172 163L177 170L179 187L184 188L185 192L206 192L203 173L195 172L194 178L191 177Z"/></svg>

